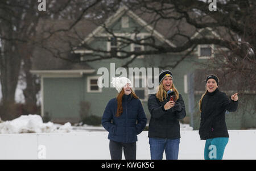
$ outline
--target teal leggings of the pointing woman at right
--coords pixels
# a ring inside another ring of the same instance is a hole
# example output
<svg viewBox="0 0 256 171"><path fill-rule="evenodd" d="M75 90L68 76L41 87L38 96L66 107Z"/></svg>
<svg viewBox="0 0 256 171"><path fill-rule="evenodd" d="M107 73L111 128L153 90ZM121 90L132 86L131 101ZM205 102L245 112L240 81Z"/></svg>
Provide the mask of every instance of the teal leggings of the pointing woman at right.
<svg viewBox="0 0 256 171"><path fill-rule="evenodd" d="M207 139L204 147L204 159L221 160L228 141L228 137L215 137L213 139Z"/></svg>

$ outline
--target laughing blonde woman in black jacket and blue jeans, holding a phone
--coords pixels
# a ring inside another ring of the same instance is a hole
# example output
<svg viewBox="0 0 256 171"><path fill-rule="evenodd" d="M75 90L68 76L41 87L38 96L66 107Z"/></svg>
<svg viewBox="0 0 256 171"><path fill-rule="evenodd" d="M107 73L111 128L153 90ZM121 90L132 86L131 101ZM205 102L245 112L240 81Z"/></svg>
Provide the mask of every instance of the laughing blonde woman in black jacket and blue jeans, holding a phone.
<svg viewBox="0 0 256 171"><path fill-rule="evenodd" d="M170 70L159 73L159 89L148 99L148 110L151 118L148 126L150 155L152 160L176 159L179 153L180 124L178 119L186 115L181 94L172 83Z"/></svg>

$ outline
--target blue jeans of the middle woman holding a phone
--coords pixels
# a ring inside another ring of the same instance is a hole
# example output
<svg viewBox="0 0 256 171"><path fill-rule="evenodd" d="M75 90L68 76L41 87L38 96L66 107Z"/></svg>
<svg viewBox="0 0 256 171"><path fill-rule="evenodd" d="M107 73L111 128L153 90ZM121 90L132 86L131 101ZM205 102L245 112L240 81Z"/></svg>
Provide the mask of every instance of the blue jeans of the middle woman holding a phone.
<svg viewBox="0 0 256 171"><path fill-rule="evenodd" d="M149 138L151 160L162 160L163 152L166 160L177 160L180 139Z"/></svg>

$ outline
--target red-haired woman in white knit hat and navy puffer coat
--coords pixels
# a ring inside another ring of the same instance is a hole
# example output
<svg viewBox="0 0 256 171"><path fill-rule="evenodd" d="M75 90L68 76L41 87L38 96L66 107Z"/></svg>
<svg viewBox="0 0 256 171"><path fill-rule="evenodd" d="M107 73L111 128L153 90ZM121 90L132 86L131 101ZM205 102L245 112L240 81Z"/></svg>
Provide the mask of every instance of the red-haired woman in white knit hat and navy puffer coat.
<svg viewBox="0 0 256 171"><path fill-rule="evenodd" d="M112 78L118 90L116 98L110 99L102 116L102 126L109 132L110 156L113 160L136 159L137 135L146 127L147 118L142 103L131 89L126 77Z"/></svg>

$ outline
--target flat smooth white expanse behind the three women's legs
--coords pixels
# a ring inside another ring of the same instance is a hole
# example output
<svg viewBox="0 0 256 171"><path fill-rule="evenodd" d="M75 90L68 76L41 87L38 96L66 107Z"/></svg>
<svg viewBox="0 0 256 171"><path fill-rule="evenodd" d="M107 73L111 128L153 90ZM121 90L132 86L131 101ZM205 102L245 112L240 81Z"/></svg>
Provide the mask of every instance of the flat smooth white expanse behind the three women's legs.
<svg viewBox="0 0 256 171"><path fill-rule="evenodd" d="M203 160L205 141L200 140L198 131L180 131L180 134L179 159ZM147 135L147 131L138 135L139 160L150 159ZM256 159L255 130L229 130L229 135L224 160ZM0 134L1 159L109 160L108 132ZM163 159L166 159L165 155Z"/></svg>

